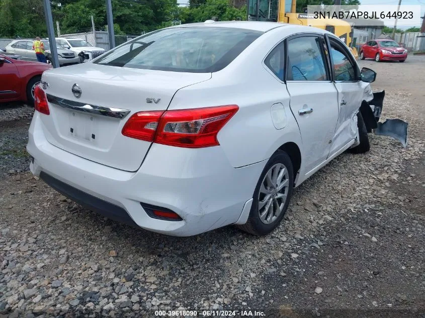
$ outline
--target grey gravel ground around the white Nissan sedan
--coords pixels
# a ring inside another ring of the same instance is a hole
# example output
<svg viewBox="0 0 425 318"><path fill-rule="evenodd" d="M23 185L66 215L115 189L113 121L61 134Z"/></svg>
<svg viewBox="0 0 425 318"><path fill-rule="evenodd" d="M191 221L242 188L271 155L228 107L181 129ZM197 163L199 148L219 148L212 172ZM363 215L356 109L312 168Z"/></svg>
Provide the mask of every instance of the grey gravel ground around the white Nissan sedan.
<svg viewBox="0 0 425 318"><path fill-rule="evenodd" d="M21 158L28 120L0 122L2 151L6 145L12 153L0 155L0 312L425 317L425 98L418 75L425 57L361 65L378 72L374 89L386 89L382 118L409 122L408 146L370 135L369 153L344 153L298 187L279 229L261 238L233 227L174 238L102 219L11 163Z"/></svg>

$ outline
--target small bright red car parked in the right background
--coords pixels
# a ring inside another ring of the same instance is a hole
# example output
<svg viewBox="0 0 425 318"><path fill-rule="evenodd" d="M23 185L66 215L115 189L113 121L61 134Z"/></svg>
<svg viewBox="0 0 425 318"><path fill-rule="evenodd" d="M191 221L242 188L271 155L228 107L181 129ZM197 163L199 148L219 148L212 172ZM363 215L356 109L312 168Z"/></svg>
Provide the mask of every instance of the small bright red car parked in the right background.
<svg viewBox="0 0 425 318"><path fill-rule="evenodd" d="M360 48L359 57L373 58L375 61L400 61L407 58L407 50L393 40L378 39L367 42Z"/></svg>

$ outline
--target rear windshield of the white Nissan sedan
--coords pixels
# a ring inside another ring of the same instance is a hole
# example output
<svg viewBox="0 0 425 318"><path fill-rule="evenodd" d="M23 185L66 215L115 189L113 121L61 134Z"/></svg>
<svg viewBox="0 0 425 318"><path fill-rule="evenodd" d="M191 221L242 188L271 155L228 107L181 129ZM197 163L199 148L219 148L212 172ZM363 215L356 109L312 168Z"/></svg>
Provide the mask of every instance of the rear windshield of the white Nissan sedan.
<svg viewBox="0 0 425 318"><path fill-rule="evenodd" d="M216 72L262 34L236 28L162 29L111 50L94 63L175 72Z"/></svg>

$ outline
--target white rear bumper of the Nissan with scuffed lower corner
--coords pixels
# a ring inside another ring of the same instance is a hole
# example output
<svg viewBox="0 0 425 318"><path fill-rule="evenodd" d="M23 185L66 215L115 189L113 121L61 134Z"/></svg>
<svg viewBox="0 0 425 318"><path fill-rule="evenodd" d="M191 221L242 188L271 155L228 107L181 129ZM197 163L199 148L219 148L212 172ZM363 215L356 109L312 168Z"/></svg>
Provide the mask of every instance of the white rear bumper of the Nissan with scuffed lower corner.
<svg viewBox="0 0 425 318"><path fill-rule="evenodd" d="M45 115L35 112L27 145L34 175L41 174L53 188L107 217L167 235L196 235L237 222L266 164L235 169L221 147L153 144L138 171L122 171L51 145L40 116ZM153 219L141 203L170 209L183 220Z"/></svg>

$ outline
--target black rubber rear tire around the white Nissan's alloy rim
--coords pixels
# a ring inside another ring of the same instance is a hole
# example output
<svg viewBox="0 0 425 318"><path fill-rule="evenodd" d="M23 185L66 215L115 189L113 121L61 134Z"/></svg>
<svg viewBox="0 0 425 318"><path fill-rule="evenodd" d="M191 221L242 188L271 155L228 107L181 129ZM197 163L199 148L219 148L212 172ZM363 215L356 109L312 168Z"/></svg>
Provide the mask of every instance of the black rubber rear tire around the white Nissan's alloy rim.
<svg viewBox="0 0 425 318"><path fill-rule="evenodd" d="M288 175L289 175L288 177L289 183L287 188L288 192L287 192L286 201L284 203L281 214L272 223L265 224L260 220L260 215L258 210L260 187L263 183L263 179L266 173L269 171L271 167L273 167L277 163L283 164L288 170ZM273 230L275 230L279 226L280 222L282 221L286 213L286 210L288 209L289 201L291 200L291 196L292 196L293 187L294 187L294 172L293 172L293 165L292 165L291 158L288 156L286 152L282 150L278 150L272 155L272 157L270 157L269 161L264 167L264 170L261 173L260 178L257 182L257 186L253 194L253 201L251 205L251 210L249 212L248 221L243 225L237 225L237 227L241 229L242 231L248 232L253 235L258 235L258 236L271 233Z"/></svg>

